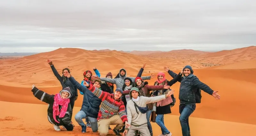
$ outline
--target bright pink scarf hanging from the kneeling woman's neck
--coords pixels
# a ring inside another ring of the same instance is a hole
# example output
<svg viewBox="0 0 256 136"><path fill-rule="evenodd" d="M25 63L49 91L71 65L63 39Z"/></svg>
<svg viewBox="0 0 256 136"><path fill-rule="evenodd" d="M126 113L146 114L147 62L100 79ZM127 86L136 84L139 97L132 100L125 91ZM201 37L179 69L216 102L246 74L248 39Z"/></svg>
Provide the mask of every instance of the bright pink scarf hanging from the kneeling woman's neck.
<svg viewBox="0 0 256 136"><path fill-rule="evenodd" d="M63 99L60 94L56 94L54 96L54 103L53 103L53 118L57 123L60 123L56 120L56 116L59 115L59 117L64 117L66 114L66 111L69 106L70 99ZM61 112L59 111L59 105L62 106Z"/></svg>

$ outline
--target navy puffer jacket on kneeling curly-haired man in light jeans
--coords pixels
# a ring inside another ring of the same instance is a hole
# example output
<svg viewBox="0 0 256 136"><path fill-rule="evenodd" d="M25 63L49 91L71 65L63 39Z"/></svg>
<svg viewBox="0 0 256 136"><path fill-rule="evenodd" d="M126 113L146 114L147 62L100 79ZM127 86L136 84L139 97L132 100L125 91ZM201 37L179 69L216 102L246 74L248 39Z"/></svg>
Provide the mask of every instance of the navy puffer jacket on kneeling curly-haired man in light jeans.
<svg viewBox="0 0 256 136"><path fill-rule="evenodd" d="M84 94L81 110L86 113L88 117L97 118L100 110L101 99L95 96L87 87L79 84L73 77L69 78L70 82Z"/></svg>

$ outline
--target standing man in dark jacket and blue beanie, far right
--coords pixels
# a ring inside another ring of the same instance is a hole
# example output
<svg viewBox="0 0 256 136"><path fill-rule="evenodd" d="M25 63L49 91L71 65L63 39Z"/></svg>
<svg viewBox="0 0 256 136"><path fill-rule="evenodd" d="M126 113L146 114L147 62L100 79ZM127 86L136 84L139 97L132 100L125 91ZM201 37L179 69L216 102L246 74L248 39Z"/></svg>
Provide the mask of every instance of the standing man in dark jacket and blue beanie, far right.
<svg viewBox="0 0 256 136"><path fill-rule="evenodd" d="M176 73L169 70L168 67L164 67L164 70L169 73L172 78L177 76ZM202 83L194 74L194 71L191 66L186 65L183 68L183 77L181 77L178 81L180 82L179 88L179 121L182 129L183 136L190 136L190 128L188 124L188 117L195 110L196 103L196 95L195 89L199 88L204 92L212 95L216 100L220 99L218 91L213 91L206 84Z"/></svg>

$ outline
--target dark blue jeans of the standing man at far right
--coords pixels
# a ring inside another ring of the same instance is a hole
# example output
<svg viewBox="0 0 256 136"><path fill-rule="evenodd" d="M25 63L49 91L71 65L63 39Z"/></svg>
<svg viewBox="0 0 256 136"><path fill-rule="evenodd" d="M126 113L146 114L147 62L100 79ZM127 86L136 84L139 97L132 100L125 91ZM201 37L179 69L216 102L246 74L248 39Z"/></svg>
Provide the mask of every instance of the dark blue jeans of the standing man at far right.
<svg viewBox="0 0 256 136"><path fill-rule="evenodd" d="M194 112L195 105L192 104L180 104L179 105L179 122L181 125L182 135L190 136L190 128L188 124L188 117Z"/></svg>

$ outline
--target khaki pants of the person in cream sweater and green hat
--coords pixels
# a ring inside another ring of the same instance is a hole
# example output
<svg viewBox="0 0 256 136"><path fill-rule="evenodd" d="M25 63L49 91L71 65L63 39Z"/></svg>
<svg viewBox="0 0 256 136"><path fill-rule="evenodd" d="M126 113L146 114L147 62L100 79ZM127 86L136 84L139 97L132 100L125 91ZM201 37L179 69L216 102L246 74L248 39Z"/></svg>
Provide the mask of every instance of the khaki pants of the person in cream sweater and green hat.
<svg viewBox="0 0 256 136"><path fill-rule="evenodd" d="M135 136L137 131L140 132L140 136L150 136L150 132L148 130L147 124L140 125L140 126L131 125L130 129L128 130L125 136Z"/></svg>

